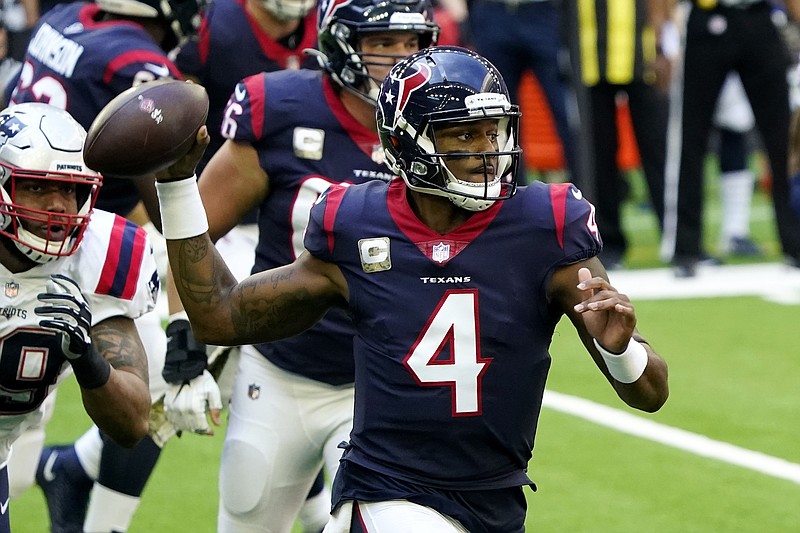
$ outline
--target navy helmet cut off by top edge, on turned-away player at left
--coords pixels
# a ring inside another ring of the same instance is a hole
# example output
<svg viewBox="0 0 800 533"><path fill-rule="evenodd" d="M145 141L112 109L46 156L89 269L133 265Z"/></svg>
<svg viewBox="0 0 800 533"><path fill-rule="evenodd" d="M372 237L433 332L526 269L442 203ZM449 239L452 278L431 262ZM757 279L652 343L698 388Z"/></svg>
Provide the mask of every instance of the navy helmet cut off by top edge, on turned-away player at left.
<svg viewBox="0 0 800 533"><path fill-rule="evenodd" d="M123 17L162 20L169 29L161 43L170 51L197 32L200 27L200 10L204 0L95 0L106 13Z"/></svg>

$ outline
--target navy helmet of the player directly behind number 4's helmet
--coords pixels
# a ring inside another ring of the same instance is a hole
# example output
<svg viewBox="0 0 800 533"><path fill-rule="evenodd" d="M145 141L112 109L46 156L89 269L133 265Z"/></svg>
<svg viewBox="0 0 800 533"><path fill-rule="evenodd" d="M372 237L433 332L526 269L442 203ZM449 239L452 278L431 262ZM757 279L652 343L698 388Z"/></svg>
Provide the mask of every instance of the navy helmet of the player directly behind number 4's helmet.
<svg viewBox="0 0 800 533"><path fill-rule="evenodd" d="M416 32L420 48L435 45L439 38L428 0L321 0L317 24L319 51L309 52L336 83L371 104L383 80L370 77L367 66L382 58L399 58L361 53L359 43L365 33Z"/></svg>

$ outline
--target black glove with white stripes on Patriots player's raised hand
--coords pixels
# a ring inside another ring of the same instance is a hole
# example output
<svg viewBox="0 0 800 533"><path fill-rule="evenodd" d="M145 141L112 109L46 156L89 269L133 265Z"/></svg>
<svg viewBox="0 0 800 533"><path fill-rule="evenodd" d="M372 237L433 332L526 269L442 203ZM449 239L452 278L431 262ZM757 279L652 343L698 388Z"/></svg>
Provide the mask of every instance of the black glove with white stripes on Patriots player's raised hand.
<svg viewBox="0 0 800 533"><path fill-rule="evenodd" d="M111 365L92 346L92 312L81 288L72 279L53 274L47 292L37 296L44 305L34 309L42 317L39 326L61 336L61 351L69 360L78 384L85 389L105 385Z"/></svg>

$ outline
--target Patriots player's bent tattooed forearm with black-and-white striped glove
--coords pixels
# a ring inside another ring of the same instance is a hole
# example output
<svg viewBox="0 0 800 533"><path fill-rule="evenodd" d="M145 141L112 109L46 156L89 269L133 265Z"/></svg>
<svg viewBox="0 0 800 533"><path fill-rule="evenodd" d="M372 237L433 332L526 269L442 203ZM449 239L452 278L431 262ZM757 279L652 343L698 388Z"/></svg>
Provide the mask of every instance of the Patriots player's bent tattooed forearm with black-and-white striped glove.
<svg viewBox="0 0 800 533"><path fill-rule="evenodd" d="M61 337L86 412L120 445L135 445L149 429L150 391L147 357L133 320L111 317L92 326L80 287L58 274L38 299L39 325Z"/></svg>

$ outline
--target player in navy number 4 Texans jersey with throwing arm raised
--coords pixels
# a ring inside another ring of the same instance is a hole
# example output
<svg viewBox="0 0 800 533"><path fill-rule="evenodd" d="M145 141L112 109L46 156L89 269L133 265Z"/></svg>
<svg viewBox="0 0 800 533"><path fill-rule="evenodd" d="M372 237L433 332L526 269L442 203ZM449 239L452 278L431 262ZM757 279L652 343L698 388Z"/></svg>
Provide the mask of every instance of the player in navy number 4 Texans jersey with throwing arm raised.
<svg viewBox="0 0 800 533"><path fill-rule="evenodd" d="M597 258L593 206L571 184L516 187L519 113L494 66L428 48L391 70L377 102L401 178L327 189L305 251L239 283L195 180L179 179L208 142L201 128L158 176L176 287L193 331L214 344L313 331L331 309L352 317L353 429L326 531L521 533L560 319L631 407L663 405L666 363ZM295 355L311 365L325 352ZM255 375L246 383L275 392Z"/></svg>

